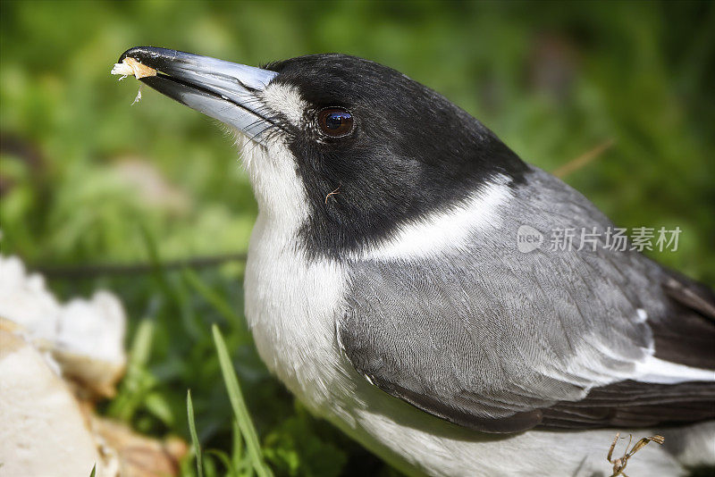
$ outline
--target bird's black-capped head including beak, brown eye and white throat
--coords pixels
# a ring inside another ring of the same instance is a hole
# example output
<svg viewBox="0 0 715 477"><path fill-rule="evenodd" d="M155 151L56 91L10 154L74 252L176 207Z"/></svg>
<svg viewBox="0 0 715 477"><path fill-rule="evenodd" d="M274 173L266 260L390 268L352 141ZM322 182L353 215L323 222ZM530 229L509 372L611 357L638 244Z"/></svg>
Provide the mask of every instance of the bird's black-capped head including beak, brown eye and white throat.
<svg viewBox="0 0 715 477"><path fill-rule="evenodd" d="M255 68L155 47L151 88L240 132L259 208L311 255L341 256L526 164L482 123L399 71L345 54Z"/></svg>

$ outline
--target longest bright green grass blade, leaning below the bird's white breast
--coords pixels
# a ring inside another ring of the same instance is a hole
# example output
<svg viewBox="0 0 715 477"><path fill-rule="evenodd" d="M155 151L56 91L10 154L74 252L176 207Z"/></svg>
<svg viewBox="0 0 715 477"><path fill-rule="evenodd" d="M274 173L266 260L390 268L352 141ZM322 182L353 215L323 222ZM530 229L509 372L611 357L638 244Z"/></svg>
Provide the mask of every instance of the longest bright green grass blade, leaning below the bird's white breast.
<svg viewBox="0 0 715 477"><path fill-rule="evenodd" d="M214 324L211 331L214 333L214 343L218 353L219 364L221 364L223 381L226 384L226 390L231 400L233 414L236 415L236 421L239 423L241 434L243 434L243 439L246 440L248 457L253 463L258 477L271 477L273 473L263 460L256 428L253 426L253 422L251 422L246 402L243 399L243 394L240 392L239 380L236 378L236 372L231 364L231 356L226 349L226 343L223 341L223 336L218 326Z"/></svg>

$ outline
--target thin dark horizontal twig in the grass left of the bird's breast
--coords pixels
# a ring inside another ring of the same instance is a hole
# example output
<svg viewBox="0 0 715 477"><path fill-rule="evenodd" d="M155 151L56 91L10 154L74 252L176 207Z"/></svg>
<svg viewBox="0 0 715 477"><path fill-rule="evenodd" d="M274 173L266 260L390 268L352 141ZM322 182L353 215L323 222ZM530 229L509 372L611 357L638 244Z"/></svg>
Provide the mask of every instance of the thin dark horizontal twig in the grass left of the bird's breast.
<svg viewBox="0 0 715 477"><path fill-rule="evenodd" d="M243 262L246 254L226 254L213 256L198 256L180 260L171 260L158 264L164 270L182 268L206 268L224 264L226 262ZM79 264L79 265L43 265L29 267L40 272L47 278L53 279L82 279L94 278L103 275L138 275L156 270L156 264L140 262L135 264Z"/></svg>

